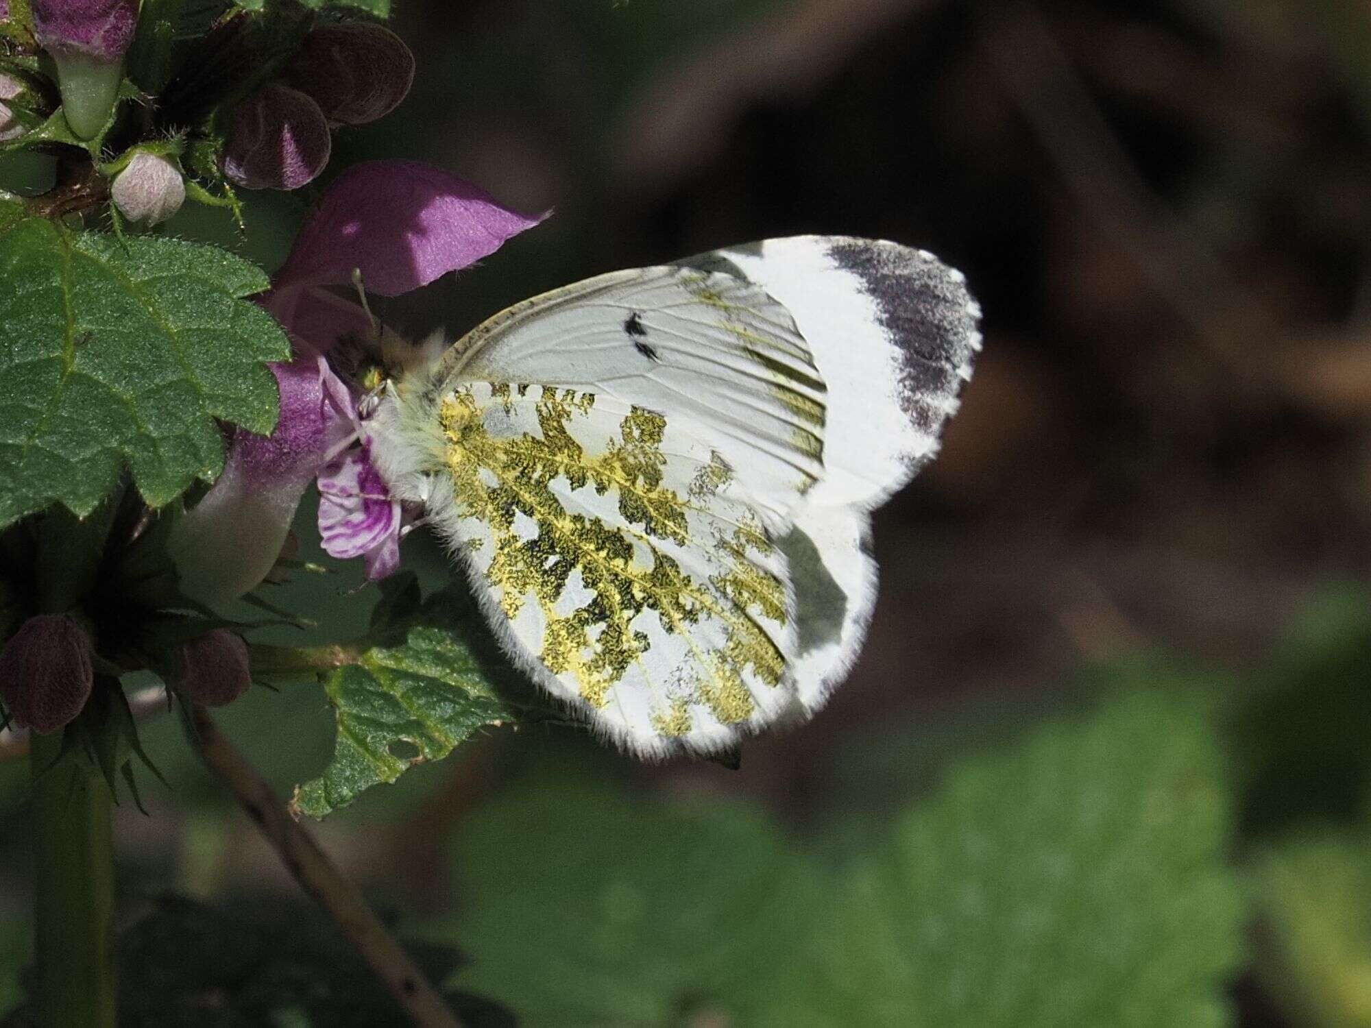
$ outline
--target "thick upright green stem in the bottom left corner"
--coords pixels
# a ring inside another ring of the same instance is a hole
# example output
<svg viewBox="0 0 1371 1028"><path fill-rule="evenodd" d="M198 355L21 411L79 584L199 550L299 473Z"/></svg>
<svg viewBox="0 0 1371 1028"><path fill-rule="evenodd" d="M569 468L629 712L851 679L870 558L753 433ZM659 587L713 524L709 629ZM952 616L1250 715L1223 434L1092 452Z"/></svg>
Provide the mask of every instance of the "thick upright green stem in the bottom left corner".
<svg viewBox="0 0 1371 1028"><path fill-rule="evenodd" d="M62 733L34 735L37 1024L114 1028L114 835L95 768L62 757Z"/></svg>

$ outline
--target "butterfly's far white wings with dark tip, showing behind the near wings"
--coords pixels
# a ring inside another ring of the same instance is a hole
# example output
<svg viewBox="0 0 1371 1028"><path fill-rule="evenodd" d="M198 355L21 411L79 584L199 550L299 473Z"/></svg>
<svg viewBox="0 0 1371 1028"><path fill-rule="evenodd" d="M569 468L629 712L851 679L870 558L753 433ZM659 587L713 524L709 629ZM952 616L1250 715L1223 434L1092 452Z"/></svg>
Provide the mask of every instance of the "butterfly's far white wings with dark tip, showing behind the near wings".
<svg viewBox="0 0 1371 1028"><path fill-rule="evenodd" d="M824 477L780 540L799 593L794 676L808 717L861 650L876 602L869 511L938 452L982 345L980 307L960 271L897 243L798 236L690 263L732 269L783 303L828 388Z"/></svg>

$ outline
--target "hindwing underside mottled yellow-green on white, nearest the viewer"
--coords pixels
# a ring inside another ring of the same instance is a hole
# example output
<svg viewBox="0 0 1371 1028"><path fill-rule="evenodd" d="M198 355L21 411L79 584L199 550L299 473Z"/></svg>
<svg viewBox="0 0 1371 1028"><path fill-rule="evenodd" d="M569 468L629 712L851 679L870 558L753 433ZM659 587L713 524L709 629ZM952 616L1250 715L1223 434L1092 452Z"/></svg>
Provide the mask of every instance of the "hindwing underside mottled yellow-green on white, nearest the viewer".
<svg viewBox="0 0 1371 1028"><path fill-rule="evenodd" d="M687 419L531 384L435 403L432 515L546 688L643 752L725 747L791 702L784 558Z"/></svg>

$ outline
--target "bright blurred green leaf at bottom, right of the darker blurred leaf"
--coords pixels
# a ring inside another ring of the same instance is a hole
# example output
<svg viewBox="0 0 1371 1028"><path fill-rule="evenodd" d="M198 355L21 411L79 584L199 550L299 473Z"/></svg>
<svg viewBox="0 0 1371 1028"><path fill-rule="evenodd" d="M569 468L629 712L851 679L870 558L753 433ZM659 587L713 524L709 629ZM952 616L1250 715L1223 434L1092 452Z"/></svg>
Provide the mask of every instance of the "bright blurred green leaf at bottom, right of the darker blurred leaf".
<svg viewBox="0 0 1371 1028"><path fill-rule="evenodd" d="M1233 1023L1231 810L1196 705L1139 694L962 762L858 862L749 1023Z"/></svg>

